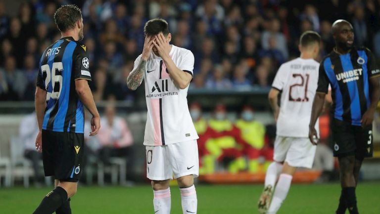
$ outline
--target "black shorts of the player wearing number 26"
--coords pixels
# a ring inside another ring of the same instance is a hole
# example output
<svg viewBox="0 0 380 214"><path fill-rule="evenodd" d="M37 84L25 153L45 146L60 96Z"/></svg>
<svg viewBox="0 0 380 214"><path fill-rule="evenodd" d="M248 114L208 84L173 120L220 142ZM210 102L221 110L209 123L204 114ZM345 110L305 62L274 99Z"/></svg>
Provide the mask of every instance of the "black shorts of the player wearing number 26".
<svg viewBox="0 0 380 214"><path fill-rule="evenodd" d="M77 182L84 153L84 134L42 130L42 155L45 176Z"/></svg>

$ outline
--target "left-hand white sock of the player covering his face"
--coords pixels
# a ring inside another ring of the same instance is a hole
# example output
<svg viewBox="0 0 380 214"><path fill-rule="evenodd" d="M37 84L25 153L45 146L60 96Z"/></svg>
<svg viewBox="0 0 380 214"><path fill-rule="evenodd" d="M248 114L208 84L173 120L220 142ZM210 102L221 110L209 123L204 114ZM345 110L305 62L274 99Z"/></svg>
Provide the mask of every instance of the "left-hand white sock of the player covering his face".
<svg viewBox="0 0 380 214"><path fill-rule="evenodd" d="M170 214L170 187L164 190L153 190L154 214Z"/></svg>

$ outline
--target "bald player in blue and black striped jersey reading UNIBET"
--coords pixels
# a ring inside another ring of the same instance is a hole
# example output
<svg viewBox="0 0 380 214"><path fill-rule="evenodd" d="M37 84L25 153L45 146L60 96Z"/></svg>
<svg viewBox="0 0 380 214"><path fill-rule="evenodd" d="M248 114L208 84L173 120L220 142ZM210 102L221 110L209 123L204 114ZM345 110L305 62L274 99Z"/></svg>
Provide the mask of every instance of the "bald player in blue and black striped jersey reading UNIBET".
<svg viewBox="0 0 380 214"><path fill-rule="evenodd" d="M355 188L363 159L372 157L372 122L380 97L380 70L366 47L355 47L352 25L346 20L332 24L333 51L321 62L317 94L313 103L309 137L332 88L331 130L333 153L339 161L341 193L336 214L358 214Z"/></svg>

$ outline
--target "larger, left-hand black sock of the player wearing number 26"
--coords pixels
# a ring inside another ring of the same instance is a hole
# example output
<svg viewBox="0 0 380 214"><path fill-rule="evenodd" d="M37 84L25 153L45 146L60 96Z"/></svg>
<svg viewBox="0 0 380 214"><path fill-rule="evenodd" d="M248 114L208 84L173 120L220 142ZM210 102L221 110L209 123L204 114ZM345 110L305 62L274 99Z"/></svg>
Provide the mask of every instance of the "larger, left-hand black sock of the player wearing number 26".
<svg viewBox="0 0 380 214"><path fill-rule="evenodd" d="M33 214L52 214L67 201L67 192L57 186L53 191L47 193L40 206Z"/></svg>

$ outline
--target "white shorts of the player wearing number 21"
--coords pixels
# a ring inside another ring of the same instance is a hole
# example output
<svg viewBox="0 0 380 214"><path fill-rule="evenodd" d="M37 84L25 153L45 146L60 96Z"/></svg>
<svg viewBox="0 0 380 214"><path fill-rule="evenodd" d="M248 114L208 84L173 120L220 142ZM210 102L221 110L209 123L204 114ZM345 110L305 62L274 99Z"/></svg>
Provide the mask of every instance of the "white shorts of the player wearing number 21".
<svg viewBox="0 0 380 214"><path fill-rule="evenodd" d="M291 167L312 168L316 148L307 137L277 136L273 159Z"/></svg>

